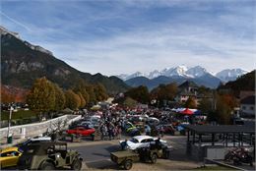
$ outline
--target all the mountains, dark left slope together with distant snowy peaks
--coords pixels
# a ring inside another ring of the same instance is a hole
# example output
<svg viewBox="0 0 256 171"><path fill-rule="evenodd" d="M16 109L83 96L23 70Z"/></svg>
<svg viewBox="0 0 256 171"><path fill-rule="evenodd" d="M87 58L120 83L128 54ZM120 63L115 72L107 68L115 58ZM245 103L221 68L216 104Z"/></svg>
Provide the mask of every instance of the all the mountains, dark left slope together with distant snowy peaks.
<svg viewBox="0 0 256 171"><path fill-rule="evenodd" d="M72 68L57 59L51 51L23 40L18 32L0 27L0 34L2 85L30 88L35 79L46 77L64 88L85 80L90 84L100 83L109 93L116 93L125 91L129 85L147 85L152 89L160 84L180 84L185 80L193 81L197 85L217 87L221 82L233 81L246 73L241 69L227 69L213 75L201 66L188 68L181 65L161 71L155 70L148 74L136 72L117 77L106 77L99 73L91 75Z"/></svg>

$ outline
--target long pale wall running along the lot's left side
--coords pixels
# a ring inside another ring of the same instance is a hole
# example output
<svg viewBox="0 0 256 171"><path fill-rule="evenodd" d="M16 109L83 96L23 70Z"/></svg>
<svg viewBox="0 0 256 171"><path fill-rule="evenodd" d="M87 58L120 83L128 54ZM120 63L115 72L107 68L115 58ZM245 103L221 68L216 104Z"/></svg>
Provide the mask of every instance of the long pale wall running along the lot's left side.
<svg viewBox="0 0 256 171"><path fill-rule="evenodd" d="M72 122L81 119L81 115L64 115L58 118L54 118L51 120L47 120L40 123L27 124L27 125L19 125L10 128L10 133L14 138L24 139L25 137L32 137L46 131L53 131L57 127L68 127ZM0 137L7 137L8 128L0 129Z"/></svg>

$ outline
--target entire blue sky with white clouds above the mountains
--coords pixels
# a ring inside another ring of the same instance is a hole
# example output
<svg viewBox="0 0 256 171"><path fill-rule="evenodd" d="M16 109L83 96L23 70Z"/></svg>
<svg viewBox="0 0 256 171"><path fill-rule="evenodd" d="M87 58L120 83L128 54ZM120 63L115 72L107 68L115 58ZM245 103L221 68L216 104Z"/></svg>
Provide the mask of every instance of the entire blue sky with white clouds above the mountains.
<svg viewBox="0 0 256 171"><path fill-rule="evenodd" d="M1 26L106 76L178 65L254 70L256 0L2 0Z"/></svg>

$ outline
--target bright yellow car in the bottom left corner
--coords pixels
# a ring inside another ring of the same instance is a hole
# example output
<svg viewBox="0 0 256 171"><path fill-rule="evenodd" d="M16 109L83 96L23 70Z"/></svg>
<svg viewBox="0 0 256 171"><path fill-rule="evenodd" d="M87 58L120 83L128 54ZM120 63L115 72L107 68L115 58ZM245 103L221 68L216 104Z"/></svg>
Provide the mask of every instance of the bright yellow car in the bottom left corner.
<svg viewBox="0 0 256 171"><path fill-rule="evenodd" d="M16 166L23 150L19 147L7 147L1 150L1 169Z"/></svg>

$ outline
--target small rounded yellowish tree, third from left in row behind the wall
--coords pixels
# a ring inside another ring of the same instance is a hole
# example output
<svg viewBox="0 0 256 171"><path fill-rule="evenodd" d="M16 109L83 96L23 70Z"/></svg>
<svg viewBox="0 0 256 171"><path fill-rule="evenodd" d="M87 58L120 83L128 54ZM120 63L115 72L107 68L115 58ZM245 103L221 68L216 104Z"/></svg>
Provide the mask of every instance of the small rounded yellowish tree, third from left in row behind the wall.
<svg viewBox="0 0 256 171"><path fill-rule="evenodd" d="M66 104L65 104L66 107L73 110L79 108L81 104L80 97L73 90L68 89L65 92L65 97L66 97Z"/></svg>

